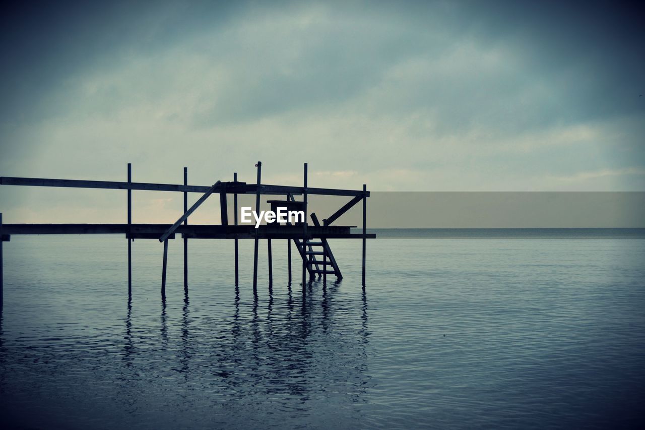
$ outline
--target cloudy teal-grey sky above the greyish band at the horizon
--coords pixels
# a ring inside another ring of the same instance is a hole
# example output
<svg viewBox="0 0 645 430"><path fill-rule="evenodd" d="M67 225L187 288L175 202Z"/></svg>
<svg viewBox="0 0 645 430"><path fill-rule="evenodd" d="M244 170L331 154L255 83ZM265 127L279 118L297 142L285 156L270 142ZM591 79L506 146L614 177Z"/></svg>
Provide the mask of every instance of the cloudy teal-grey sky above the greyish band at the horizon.
<svg viewBox="0 0 645 430"><path fill-rule="evenodd" d="M210 185L263 161L300 185L307 162L313 187L645 191L628 6L87 3L0 17L0 176ZM0 187L0 209L115 221L123 192L98 193ZM157 194L135 210L181 209Z"/></svg>

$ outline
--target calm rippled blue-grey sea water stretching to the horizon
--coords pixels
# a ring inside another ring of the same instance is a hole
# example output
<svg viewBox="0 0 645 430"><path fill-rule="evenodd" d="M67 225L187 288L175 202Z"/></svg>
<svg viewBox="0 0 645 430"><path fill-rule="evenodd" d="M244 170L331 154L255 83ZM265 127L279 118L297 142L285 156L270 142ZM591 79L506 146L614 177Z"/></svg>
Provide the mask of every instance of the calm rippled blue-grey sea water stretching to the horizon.
<svg viewBox="0 0 645 430"><path fill-rule="evenodd" d="M3 424L24 428L636 428L645 230L376 230L344 279L286 283L286 242L13 236ZM411 240L417 238L417 240ZM294 249L295 251L295 249ZM297 262L294 258L294 267Z"/></svg>

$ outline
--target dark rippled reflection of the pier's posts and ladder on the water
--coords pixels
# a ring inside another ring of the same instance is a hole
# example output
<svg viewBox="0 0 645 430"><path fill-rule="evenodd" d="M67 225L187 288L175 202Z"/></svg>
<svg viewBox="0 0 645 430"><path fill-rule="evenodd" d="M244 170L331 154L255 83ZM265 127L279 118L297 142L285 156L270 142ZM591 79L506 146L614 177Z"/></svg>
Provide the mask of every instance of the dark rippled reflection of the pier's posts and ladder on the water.
<svg viewBox="0 0 645 430"><path fill-rule="evenodd" d="M286 294L275 296L270 289L266 298L256 294L246 303L241 300L239 287L235 287L232 314L201 314L201 322L195 327L190 323L190 301L185 296L176 338L172 314L168 314L174 310L163 303L160 351L184 381L194 384L197 379L224 399L270 394L277 396L278 407L293 408L293 400L297 399L299 409L307 409L306 402L314 396L339 396L345 401L349 396L351 402L361 402L361 394L369 384L365 351L369 334L367 301L363 292L360 306L356 306L357 300L341 303L342 321L335 321L333 298L340 286L340 282L325 288L321 283L308 283L298 307L291 285ZM356 309L353 322L348 323L350 305ZM133 323L136 324L130 307L124 362L141 367L142 373L154 373L159 369L150 366L156 367L156 363L132 360L136 351ZM170 354L173 350L175 357ZM172 365L173 360L176 365Z"/></svg>

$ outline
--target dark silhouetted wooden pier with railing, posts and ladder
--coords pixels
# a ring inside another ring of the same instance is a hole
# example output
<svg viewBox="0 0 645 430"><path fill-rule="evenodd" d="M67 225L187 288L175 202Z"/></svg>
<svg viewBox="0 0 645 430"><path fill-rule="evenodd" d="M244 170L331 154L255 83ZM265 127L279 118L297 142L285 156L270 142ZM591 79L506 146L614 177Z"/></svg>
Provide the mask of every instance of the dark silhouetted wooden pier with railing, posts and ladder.
<svg viewBox="0 0 645 430"><path fill-rule="evenodd" d="M262 163L258 161L257 180L246 183L237 180L217 181L210 186L188 185L188 169L184 167L184 183L182 185L163 183L142 183L132 181L132 165L128 163L127 181L81 181L71 179L43 178L14 178L0 177L0 185L23 185L35 187L71 187L92 189L121 189L127 190L127 223L123 224L3 224L0 213L0 307L3 301L3 242L10 241L14 234L124 234L128 240L128 297L132 296L132 241L134 239L155 239L163 243L163 262L161 277L161 297L166 298L166 267L168 260L168 240L173 240L181 234L184 242L184 292L188 293L188 240L189 239L232 239L235 240L235 286L239 285L239 256L238 243L240 239L252 239L253 247L253 292L257 293L257 256L259 241L266 240L268 247L269 285L273 283L272 270L272 240L287 241L288 282L292 282L291 243L300 254L302 260L303 294L306 291L307 278L312 280L316 275L326 282L327 275L342 278L341 270L335 260L328 239L361 239L362 240L362 285L365 287L365 254L366 240L375 238L375 234L366 232L367 198L370 192L366 185L362 190L310 188L307 186L307 164L304 164L303 187L284 185L268 185L261 183ZM182 192L184 198L184 214L173 224L135 224L132 223L132 190L155 190ZM188 193L202 194L192 207L188 208ZM188 224L188 218L211 194L219 194L220 224ZM227 195L233 194L233 224L228 223ZM284 196L284 200L268 200L272 208L290 207L304 211L304 222L301 223L267 223L260 225L238 224L237 196L239 194L255 194L255 210L259 210L261 196ZM326 196L347 196L352 198L321 224L315 213L308 214L307 198L318 194ZM302 196L297 200L295 196ZM342 214L352 209L362 201L362 232L352 233L353 226L332 225ZM308 222L311 218L312 224Z"/></svg>

